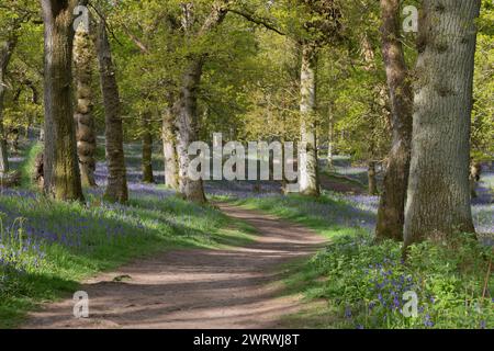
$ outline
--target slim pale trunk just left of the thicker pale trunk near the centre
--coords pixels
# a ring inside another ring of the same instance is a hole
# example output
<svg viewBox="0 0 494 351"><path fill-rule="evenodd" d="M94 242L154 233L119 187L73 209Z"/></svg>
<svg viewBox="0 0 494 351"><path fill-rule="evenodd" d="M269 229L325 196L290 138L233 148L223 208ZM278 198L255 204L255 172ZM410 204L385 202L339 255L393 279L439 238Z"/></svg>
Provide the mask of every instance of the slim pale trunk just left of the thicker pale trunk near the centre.
<svg viewBox="0 0 494 351"><path fill-rule="evenodd" d="M165 184L172 190L179 190L177 140L173 113L171 111L172 99L162 114L162 152L165 157Z"/></svg>

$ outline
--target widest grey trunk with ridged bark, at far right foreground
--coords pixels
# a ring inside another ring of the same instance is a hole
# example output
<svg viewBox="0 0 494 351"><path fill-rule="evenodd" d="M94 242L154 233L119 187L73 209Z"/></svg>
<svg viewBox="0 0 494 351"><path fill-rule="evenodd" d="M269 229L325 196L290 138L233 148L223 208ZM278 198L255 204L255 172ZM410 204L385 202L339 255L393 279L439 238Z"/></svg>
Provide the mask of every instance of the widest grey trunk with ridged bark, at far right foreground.
<svg viewBox="0 0 494 351"><path fill-rule="evenodd" d="M474 233L470 123L480 0L424 0L405 247L454 231Z"/></svg>

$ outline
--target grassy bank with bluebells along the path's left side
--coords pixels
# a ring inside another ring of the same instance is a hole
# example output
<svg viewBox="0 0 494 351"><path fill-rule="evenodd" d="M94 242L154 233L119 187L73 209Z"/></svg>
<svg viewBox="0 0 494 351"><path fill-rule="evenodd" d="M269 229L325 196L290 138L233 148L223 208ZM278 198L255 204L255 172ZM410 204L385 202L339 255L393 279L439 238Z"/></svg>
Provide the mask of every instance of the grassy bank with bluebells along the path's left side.
<svg viewBox="0 0 494 351"><path fill-rule="evenodd" d="M165 191L133 193L126 205L91 192L86 204L47 200L31 180L40 149L34 144L25 152L23 189L0 196L0 328L18 327L40 303L68 296L83 279L134 259L254 240L245 223Z"/></svg>

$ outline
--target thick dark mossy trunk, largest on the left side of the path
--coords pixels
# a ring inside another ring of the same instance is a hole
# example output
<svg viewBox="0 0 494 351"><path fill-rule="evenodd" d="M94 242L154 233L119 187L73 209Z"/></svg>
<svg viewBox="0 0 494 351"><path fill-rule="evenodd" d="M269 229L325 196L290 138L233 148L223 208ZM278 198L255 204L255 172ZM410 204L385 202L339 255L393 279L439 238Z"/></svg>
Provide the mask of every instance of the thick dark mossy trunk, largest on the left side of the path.
<svg viewBox="0 0 494 351"><path fill-rule="evenodd" d="M45 23L44 190L83 201L72 109L72 11L77 1L42 0Z"/></svg>

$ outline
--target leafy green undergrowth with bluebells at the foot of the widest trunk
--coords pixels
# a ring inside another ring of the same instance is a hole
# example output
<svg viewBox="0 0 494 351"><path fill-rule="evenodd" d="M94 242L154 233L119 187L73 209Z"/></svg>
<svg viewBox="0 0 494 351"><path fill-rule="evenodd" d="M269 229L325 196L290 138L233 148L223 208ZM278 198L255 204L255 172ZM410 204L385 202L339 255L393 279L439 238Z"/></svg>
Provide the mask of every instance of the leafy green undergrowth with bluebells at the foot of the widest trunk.
<svg viewBox="0 0 494 351"><path fill-rule="evenodd" d="M493 257L458 235L413 247L404 263L398 244L362 235L336 239L308 264L327 279L321 297L339 308L340 327L493 328ZM416 317L403 314L406 292L418 296Z"/></svg>

